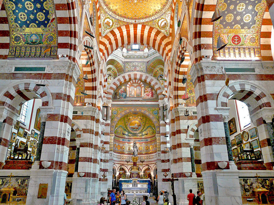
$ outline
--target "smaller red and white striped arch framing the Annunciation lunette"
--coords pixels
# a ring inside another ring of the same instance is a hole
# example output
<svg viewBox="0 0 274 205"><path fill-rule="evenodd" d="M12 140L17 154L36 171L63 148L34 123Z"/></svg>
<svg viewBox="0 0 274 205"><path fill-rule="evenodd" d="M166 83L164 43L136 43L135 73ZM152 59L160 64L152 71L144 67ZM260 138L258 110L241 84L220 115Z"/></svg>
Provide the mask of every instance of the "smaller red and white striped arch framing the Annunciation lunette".
<svg viewBox="0 0 274 205"><path fill-rule="evenodd" d="M141 73L141 72L130 72L130 73L124 73L123 75L119 75L108 86L108 89L107 89L108 94L106 94L106 98L110 100L114 91L120 85L122 85L123 83L130 81L130 80L139 80L139 81L148 83L156 91L156 93L159 97L159 100L164 99L164 96L161 95L163 92L163 89L162 89L162 85L159 83L159 81L157 81L151 75L148 75L146 73Z"/></svg>

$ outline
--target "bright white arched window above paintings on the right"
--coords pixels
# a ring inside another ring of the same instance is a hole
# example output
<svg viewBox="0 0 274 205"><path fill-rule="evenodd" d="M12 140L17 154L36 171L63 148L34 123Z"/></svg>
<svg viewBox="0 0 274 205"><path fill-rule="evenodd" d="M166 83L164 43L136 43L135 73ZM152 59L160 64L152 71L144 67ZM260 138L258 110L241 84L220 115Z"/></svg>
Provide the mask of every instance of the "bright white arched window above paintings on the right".
<svg viewBox="0 0 274 205"><path fill-rule="evenodd" d="M240 129L244 130L250 126L250 116L249 116L248 106L245 103L236 100L236 107L238 112Z"/></svg>

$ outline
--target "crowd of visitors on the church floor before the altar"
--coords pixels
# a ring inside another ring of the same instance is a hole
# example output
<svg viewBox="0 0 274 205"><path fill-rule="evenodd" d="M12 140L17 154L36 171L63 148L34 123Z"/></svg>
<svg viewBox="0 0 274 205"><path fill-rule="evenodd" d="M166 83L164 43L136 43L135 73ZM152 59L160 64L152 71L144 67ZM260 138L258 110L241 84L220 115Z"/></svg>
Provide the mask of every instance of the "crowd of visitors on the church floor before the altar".
<svg viewBox="0 0 274 205"><path fill-rule="evenodd" d="M189 190L188 205L205 205L205 194L202 194L201 191L197 191L197 196L192 193L192 189ZM116 192L116 189L113 189L110 194L110 205L130 205L130 201L126 198L124 190ZM156 200L156 198L155 198ZM158 205L171 205L168 199L164 198L163 192L160 192L157 200ZM98 205L104 205L104 197L101 197ZM148 201L148 196L144 197L144 201L141 205L150 205Z"/></svg>

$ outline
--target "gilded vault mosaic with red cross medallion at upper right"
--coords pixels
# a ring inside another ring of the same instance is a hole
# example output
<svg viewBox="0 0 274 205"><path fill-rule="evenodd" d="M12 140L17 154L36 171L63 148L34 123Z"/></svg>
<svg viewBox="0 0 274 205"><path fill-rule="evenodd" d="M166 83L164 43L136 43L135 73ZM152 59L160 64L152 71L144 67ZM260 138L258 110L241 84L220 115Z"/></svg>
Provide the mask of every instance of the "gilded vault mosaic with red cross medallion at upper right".
<svg viewBox="0 0 274 205"><path fill-rule="evenodd" d="M213 52L225 58L261 57L260 33L266 1L218 0L222 18L213 23ZM216 51L220 36L227 46Z"/></svg>

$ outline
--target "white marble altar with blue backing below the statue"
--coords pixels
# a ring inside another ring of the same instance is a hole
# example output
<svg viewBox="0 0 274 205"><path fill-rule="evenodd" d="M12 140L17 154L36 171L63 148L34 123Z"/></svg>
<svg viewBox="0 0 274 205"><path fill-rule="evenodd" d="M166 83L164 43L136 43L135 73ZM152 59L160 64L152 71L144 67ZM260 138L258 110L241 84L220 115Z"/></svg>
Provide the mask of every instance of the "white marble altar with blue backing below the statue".
<svg viewBox="0 0 274 205"><path fill-rule="evenodd" d="M120 179L119 190L124 190L125 193L150 193L150 179L137 179L136 184L133 184L132 179Z"/></svg>

